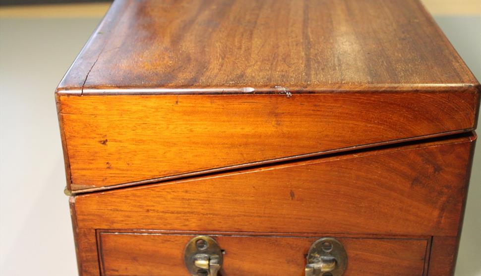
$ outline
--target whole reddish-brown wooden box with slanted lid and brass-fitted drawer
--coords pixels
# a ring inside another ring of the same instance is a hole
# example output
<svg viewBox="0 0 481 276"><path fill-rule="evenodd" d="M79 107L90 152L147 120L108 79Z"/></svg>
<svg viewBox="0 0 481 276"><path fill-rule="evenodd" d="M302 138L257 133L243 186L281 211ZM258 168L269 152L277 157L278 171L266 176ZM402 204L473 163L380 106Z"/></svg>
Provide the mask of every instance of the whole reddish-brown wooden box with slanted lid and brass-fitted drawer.
<svg viewBox="0 0 481 276"><path fill-rule="evenodd" d="M117 0L56 100L82 276L453 273L480 84L418 0Z"/></svg>

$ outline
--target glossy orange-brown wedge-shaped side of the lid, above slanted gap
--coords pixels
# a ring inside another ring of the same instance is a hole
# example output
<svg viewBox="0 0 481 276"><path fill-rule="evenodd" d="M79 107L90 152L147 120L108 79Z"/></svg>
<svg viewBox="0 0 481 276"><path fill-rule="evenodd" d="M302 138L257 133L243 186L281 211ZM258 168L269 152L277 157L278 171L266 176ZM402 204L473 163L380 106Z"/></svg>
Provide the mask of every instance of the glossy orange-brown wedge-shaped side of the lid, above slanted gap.
<svg viewBox="0 0 481 276"><path fill-rule="evenodd" d="M82 190L474 128L478 95L60 96ZM134 103L134 104L132 104Z"/></svg>

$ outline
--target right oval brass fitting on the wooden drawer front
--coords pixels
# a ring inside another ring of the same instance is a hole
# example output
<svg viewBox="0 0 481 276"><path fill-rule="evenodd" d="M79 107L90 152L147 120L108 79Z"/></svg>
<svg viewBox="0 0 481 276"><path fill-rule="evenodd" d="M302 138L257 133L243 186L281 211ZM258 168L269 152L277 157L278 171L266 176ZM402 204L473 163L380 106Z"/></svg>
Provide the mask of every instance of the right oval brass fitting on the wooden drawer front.
<svg viewBox="0 0 481 276"><path fill-rule="evenodd" d="M341 276L347 262L348 256L342 243L335 238L318 239L309 248L305 276Z"/></svg>

